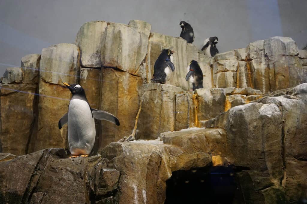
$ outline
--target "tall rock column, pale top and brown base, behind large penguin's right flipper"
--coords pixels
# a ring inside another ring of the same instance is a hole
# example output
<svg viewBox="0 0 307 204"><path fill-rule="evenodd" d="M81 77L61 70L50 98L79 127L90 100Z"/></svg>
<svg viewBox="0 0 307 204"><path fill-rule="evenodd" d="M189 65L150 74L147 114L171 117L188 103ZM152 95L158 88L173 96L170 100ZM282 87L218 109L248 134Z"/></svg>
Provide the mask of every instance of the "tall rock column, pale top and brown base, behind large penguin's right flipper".
<svg viewBox="0 0 307 204"><path fill-rule="evenodd" d="M139 109L140 68L145 60L151 25L131 20L129 25L107 23L102 36L101 110L118 117L120 126L101 121L100 147L132 134Z"/></svg>

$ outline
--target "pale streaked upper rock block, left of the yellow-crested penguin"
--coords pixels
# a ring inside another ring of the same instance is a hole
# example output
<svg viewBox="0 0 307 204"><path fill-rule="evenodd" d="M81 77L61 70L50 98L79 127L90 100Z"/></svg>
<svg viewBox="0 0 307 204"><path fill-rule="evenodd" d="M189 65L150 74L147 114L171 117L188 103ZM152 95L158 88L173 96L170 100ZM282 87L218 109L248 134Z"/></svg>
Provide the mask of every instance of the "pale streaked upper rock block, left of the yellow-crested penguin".
<svg viewBox="0 0 307 204"><path fill-rule="evenodd" d="M139 32L136 24L126 25L107 23L102 36L101 64L104 67L116 67L130 74L137 75L142 61L145 59L148 37L151 26Z"/></svg>

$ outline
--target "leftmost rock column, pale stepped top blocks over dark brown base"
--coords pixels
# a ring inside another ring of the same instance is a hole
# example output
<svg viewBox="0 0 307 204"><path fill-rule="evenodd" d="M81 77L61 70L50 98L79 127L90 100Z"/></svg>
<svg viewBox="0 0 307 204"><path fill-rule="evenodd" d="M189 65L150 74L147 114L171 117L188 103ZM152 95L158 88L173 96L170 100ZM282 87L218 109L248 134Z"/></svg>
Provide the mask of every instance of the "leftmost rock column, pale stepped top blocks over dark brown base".
<svg viewBox="0 0 307 204"><path fill-rule="evenodd" d="M7 68L4 73L0 87L2 152L22 155L32 151L40 58L40 54L29 54L22 57L21 67Z"/></svg>

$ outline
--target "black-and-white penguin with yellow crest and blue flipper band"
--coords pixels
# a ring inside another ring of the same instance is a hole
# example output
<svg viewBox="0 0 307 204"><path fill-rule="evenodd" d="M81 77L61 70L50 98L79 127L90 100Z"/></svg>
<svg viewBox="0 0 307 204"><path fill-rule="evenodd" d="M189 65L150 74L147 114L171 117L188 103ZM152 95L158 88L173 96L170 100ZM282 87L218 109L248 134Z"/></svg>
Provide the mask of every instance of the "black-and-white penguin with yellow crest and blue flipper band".
<svg viewBox="0 0 307 204"><path fill-rule="evenodd" d="M161 54L157 58L153 66L153 83L165 83L168 81L171 73L175 70L173 64L173 53L174 51L165 49L162 50Z"/></svg>

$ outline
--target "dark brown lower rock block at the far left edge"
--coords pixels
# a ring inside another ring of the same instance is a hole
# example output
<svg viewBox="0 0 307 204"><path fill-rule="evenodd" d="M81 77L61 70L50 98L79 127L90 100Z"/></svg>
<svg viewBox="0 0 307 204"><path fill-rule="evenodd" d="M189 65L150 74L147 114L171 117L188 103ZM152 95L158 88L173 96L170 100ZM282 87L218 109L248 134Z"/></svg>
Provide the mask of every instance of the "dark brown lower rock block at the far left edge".
<svg viewBox="0 0 307 204"><path fill-rule="evenodd" d="M35 116L33 84L4 84L0 88L2 152L28 153Z"/></svg>

